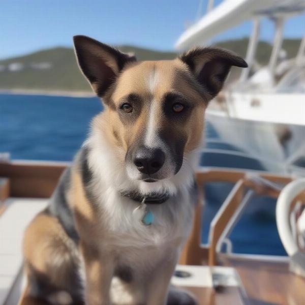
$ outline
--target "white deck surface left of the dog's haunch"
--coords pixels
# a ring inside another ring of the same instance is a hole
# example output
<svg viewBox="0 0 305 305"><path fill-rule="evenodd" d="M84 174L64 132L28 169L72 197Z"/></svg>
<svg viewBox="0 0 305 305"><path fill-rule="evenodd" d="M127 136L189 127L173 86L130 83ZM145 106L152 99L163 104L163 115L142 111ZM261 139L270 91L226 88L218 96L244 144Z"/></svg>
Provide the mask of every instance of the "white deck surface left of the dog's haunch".
<svg viewBox="0 0 305 305"><path fill-rule="evenodd" d="M22 238L29 222L47 199L10 198L0 216L0 305L5 304L22 266Z"/></svg>

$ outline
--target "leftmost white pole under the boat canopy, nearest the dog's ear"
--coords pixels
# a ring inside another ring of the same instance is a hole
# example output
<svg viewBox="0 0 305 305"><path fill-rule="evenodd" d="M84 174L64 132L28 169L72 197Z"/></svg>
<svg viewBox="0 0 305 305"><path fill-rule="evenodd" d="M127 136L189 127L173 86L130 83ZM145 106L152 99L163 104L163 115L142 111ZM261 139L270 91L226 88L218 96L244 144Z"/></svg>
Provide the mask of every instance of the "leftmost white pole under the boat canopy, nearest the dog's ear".
<svg viewBox="0 0 305 305"><path fill-rule="evenodd" d="M253 66L253 62L255 58L259 34L260 34L260 19L257 18L253 20L252 34L250 36L248 49L247 49L246 62L248 64L248 68L242 69L239 81L245 81L249 77L249 73Z"/></svg>

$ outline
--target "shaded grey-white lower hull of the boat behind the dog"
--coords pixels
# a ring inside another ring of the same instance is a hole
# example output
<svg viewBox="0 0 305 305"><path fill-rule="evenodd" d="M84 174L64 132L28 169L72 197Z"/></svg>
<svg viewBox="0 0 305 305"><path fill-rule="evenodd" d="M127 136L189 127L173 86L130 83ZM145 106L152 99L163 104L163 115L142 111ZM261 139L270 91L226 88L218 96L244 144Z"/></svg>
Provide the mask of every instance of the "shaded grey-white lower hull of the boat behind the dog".
<svg viewBox="0 0 305 305"><path fill-rule="evenodd" d="M305 156L305 126L230 117L207 110L206 120L221 141L257 159L271 172L287 173Z"/></svg>

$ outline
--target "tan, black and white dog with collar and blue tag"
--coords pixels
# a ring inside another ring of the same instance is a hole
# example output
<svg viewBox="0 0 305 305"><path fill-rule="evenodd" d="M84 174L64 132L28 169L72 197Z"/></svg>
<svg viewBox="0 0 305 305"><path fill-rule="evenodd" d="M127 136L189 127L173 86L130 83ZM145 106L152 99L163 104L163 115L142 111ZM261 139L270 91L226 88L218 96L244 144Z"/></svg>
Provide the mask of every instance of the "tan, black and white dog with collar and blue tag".
<svg viewBox="0 0 305 305"><path fill-rule="evenodd" d="M196 304L169 283L192 228L204 112L247 64L212 47L144 62L86 36L74 47L105 109L26 229L19 304Z"/></svg>

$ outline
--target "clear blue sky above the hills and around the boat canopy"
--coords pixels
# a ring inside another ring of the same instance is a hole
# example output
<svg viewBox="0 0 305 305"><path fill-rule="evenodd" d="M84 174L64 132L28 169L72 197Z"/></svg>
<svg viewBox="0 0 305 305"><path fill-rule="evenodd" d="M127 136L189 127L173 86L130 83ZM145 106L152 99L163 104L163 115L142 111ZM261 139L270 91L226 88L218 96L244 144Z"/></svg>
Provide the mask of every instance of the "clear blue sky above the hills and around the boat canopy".
<svg viewBox="0 0 305 305"><path fill-rule="evenodd" d="M216 0L216 4L221 2ZM0 58L54 46L72 46L72 36L88 35L105 43L172 50L187 23L196 18L199 0L1 0ZM206 0L203 1L203 12ZM285 36L301 37L305 15L285 26ZM261 38L270 40L273 26L262 24ZM246 22L216 40L248 36Z"/></svg>

